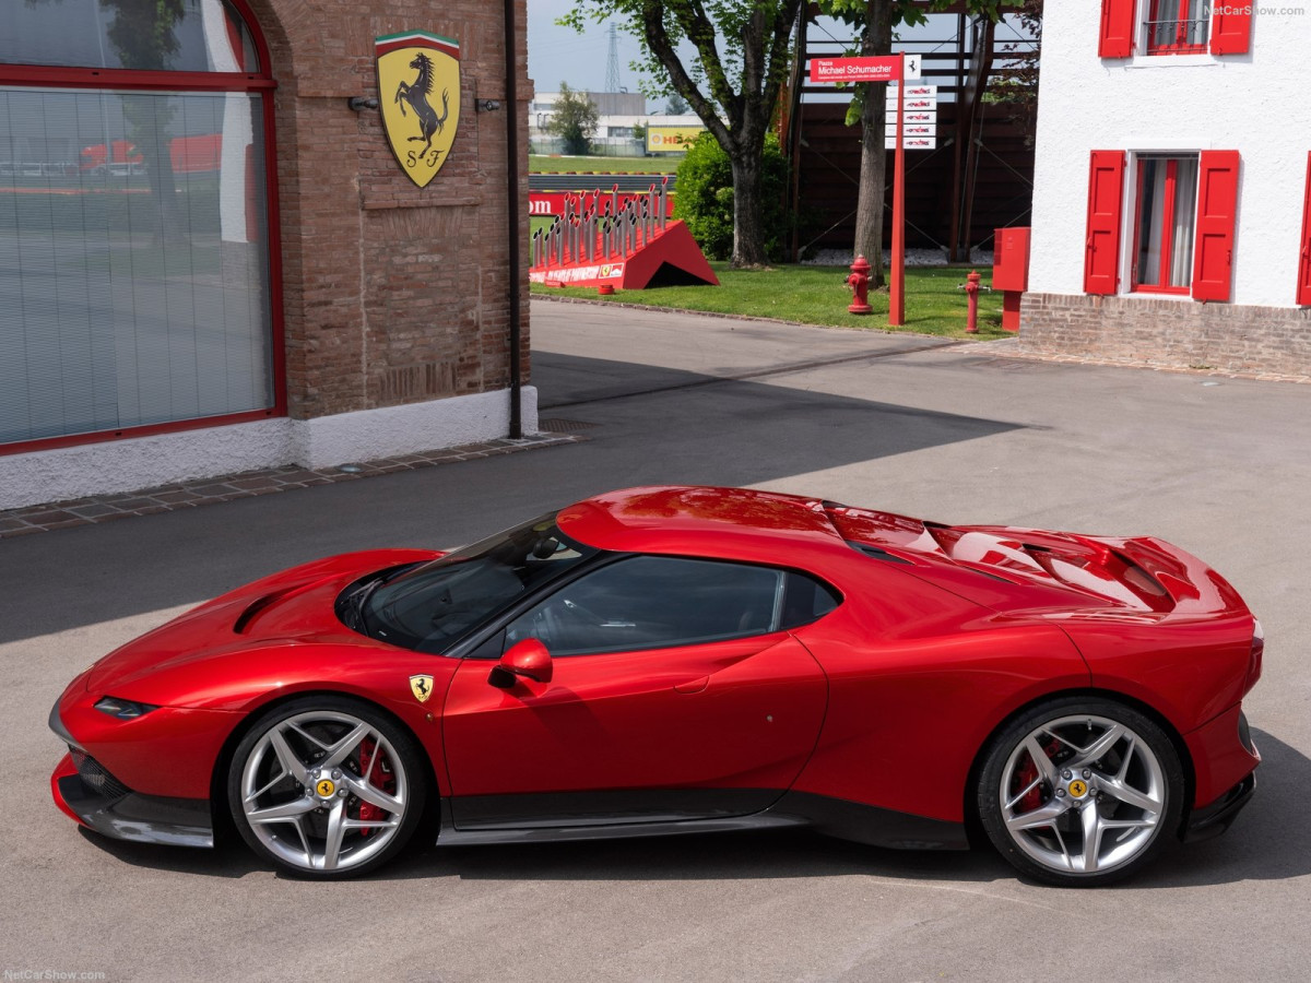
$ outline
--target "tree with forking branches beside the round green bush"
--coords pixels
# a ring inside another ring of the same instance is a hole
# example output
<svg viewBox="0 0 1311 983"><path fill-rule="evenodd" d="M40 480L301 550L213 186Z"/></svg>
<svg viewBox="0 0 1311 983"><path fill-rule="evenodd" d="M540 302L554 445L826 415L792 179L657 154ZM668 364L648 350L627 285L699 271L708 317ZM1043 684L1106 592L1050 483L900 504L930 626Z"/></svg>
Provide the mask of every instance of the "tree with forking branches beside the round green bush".
<svg viewBox="0 0 1311 983"><path fill-rule="evenodd" d="M787 77L788 41L801 0L578 0L560 24L621 20L638 38L644 66L667 79L661 92L686 100L729 155L733 172L733 265L766 263L762 178L764 138ZM696 48L691 68L676 47ZM703 90L704 89L704 90Z"/></svg>

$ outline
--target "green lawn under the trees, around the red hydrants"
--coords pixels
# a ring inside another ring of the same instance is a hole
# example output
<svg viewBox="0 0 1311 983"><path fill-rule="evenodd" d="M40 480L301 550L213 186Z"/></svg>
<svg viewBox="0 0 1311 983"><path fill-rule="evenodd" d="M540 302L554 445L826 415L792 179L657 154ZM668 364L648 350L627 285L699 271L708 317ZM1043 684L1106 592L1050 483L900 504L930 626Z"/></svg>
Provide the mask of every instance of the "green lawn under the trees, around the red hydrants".
<svg viewBox="0 0 1311 983"><path fill-rule="evenodd" d="M784 321L832 328L888 329L888 291L869 295L872 315L848 315L851 291L843 283L844 266L776 266L770 270L734 270L726 262L712 262L718 287L658 287L656 290L615 291L600 298L594 287L544 287L534 283L532 292L590 298L607 303L671 307L682 311L777 317ZM979 333L965 333L966 299L957 284L965 283L965 267L923 266L906 270L906 324L899 329L916 334L949 338L1002 338L1002 294L979 294ZM991 270L979 270L983 283Z"/></svg>

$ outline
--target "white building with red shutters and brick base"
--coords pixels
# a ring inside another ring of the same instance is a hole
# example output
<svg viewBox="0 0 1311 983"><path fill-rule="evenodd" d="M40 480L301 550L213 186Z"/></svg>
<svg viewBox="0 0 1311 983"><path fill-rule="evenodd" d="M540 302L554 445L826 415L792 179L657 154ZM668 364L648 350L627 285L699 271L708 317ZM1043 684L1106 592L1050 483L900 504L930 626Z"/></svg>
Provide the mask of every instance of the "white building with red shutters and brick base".
<svg viewBox="0 0 1311 983"><path fill-rule="evenodd" d="M1021 346L1311 372L1311 5L1047 4Z"/></svg>

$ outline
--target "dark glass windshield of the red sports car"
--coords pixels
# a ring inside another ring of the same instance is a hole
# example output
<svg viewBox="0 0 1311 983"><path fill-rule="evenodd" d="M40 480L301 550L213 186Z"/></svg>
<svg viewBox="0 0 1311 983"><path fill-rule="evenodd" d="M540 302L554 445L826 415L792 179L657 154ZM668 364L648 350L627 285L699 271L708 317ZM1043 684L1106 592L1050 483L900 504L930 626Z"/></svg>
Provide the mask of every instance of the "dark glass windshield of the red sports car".
<svg viewBox="0 0 1311 983"><path fill-rule="evenodd" d="M392 645L440 650L598 552L565 537L552 512L376 583L359 623Z"/></svg>

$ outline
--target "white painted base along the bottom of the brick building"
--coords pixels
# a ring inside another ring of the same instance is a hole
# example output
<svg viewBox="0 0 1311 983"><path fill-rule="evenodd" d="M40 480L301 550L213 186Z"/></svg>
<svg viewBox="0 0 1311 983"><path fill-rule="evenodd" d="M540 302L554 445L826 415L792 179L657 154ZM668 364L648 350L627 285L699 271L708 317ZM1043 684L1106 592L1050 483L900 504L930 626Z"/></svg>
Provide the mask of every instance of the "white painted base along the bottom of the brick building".
<svg viewBox="0 0 1311 983"><path fill-rule="evenodd" d="M523 433L538 430L538 391L523 387ZM185 430L0 456L0 509L135 492L177 481L299 464L330 468L510 433L510 392L452 396L316 419Z"/></svg>

